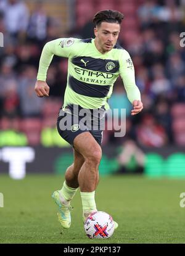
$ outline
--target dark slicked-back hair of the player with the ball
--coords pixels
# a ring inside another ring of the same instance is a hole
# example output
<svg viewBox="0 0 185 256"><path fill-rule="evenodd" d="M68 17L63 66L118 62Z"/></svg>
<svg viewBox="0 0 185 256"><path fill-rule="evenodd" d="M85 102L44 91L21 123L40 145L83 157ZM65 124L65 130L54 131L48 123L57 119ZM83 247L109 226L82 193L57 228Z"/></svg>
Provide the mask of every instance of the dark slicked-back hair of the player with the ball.
<svg viewBox="0 0 185 256"><path fill-rule="evenodd" d="M94 19L92 20L94 26L101 25L102 22L109 22L109 23L119 23L121 24L124 15L117 10L101 10L94 15Z"/></svg>

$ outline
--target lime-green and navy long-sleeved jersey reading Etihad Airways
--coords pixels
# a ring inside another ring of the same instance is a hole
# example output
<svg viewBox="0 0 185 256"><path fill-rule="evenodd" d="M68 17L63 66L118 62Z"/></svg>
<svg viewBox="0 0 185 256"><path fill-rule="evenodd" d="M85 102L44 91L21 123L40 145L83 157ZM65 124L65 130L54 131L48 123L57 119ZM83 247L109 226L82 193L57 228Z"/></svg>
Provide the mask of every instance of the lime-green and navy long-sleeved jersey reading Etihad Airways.
<svg viewBox="0 0 185 256"><path fill-rule="evenodd" d="M92 38L50 41L43 48L37 80L46 81L47 69L54 55L68 58L64 107L77 104L85 109L99 109L102 106L109 109L107 99L119 75L130 102L141 100L130 54L117 44L111 51L102 54Z"/></svg>

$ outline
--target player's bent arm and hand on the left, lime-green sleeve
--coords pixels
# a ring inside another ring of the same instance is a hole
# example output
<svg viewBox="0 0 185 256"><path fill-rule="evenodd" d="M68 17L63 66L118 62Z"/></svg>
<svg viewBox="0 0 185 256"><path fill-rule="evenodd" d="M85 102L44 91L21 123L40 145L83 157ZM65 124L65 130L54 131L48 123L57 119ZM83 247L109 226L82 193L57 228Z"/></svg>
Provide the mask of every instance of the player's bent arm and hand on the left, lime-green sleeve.
<svg viewBox="0 0 185 256"><path fill-rule="evenodd" d="M54 55L60 57L69 57L73 54L73 38L59 38L46 43L43 47L39 60L37 81L35 92L38 97L49 96L49 86L46 83L47 70L51 64Z"/></svg>

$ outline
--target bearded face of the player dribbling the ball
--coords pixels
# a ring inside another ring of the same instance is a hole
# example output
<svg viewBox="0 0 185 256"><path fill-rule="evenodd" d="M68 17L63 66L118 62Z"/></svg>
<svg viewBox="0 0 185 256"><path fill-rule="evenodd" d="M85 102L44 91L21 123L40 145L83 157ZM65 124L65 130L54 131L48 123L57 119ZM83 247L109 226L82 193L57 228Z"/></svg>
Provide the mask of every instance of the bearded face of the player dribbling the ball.
<svg viewBox="0 0 185 256"><path fill-rule="evenodd" d="M101 25L94 28L95 44L98 51L105 53L112 50L117 43L120 33L120 24L102 22Z"/></svg>

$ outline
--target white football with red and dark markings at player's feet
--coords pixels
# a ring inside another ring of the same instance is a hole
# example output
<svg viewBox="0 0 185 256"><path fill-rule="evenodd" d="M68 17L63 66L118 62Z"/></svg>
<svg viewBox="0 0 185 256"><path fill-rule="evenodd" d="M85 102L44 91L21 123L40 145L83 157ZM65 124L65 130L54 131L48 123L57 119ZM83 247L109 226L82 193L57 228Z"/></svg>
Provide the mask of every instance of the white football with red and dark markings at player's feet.
<svg viewBox="0 0 185 256"><path fill-rule="evenodd" d="M91 213L84 223L86 235L92 238L109 238L114 231L113 218L106 212Z"/></svg>

